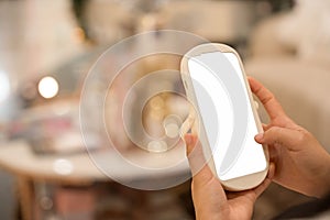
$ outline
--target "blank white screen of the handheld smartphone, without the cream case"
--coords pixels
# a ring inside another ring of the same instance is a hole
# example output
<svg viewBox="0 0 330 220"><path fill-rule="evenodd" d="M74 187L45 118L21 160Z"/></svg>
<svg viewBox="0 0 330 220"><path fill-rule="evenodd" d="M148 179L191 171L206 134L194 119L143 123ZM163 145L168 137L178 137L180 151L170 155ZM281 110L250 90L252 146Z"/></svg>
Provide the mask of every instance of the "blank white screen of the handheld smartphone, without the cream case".
<svg viewBox="0 0 330 220"><path fill-rule="evenodd" d="M237 55L204 53L188 59L188 69L219 178L265 170L267 162L263 146L254 141L258 131Z"/></svg>

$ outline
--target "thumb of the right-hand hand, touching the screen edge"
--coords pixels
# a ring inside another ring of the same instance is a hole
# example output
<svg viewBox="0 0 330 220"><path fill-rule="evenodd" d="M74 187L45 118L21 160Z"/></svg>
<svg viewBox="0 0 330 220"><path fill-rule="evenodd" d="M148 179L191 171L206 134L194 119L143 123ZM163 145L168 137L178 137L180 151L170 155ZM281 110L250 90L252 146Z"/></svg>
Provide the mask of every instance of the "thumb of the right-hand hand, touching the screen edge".
<svg viewBox="0 0 330 220"><path fill-rule="evenodd" d="M272 127L264 133L255 135L255 141L260 144L287 147L288 150L297 150L298 141L301 140L301 132L287 128Z"/></svg>

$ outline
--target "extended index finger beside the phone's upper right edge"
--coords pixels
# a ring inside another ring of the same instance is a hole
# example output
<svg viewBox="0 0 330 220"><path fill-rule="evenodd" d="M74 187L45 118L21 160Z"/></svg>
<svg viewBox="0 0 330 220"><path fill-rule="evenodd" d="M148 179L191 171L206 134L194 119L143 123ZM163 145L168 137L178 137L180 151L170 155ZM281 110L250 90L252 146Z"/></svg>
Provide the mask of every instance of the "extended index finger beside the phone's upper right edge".
<svg viewBox="0 0 330 220"><path fill-rule="evenodd" d="M280 103L276 100L274 95L265 88L261 82L252 77L248 77L251 90L260 99L265 107L271 120L285 116Z"/></svg>

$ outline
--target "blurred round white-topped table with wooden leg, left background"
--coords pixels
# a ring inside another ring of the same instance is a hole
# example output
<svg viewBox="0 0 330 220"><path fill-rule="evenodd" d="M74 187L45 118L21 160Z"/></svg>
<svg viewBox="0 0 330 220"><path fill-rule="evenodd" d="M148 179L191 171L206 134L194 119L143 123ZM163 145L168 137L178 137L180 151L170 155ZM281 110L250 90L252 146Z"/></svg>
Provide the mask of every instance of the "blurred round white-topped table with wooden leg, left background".
<svg viewBox="0 0 330 220"><path fill-rule="evenodd" d="M177 152L170 153L170 155L177 154ZM100 156L102 155L105 155L105 153L100 152ZM110 154L106 155L109 156ZM139 154L136 156L139 157ZM164 157L164 160L166 160L166 157ZM134 170L121 169L121 164L118 164L113 158L107 158L107 161L110 166L116 170L118 169L118 172L116 172L118 175L125 178L147 178L143 173L136 174ZM36 209L35 204L36 201L40 202L36 200L40 199L36 198L36 184L56 184L79 187L111 180L94 164L87 152L68 155L38 155L35 154L31 146L23 140L1 144L0 167L9 170L18 178L20 205L23 219L25 220L36 219L34 213ZM185 176L188 173L188 165L183 164L176 173L168 174L167 172L166 174L166 172L160 172L158 176L164 176L165 178L168 178L168 176L178 178L178 176ZM157 178L157 176L153 176L153 178Z"/></svg>

